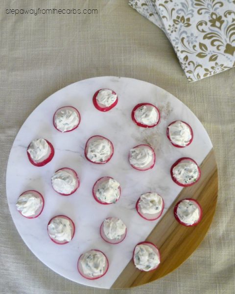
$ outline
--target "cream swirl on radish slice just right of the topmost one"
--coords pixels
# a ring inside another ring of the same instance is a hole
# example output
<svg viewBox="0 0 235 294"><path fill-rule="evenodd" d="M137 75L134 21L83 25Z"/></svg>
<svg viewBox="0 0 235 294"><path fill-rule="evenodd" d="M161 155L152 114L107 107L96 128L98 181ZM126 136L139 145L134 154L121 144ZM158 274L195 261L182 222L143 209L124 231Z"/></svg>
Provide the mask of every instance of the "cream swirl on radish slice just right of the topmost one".
<svg viewBox="0 0 235 294"><path fill-rule="evenodd" d="M153 125L157 123L159 114L155 107L142 105L135 111L135 119L138 123Z"/></svg>

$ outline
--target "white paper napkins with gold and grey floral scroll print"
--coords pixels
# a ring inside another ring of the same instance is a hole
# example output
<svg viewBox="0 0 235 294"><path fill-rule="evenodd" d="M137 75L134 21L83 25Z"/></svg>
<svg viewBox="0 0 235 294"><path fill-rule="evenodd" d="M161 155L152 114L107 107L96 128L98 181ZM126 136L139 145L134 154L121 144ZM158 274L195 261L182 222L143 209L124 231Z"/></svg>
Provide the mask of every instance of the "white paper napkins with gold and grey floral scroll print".
<svg viewBox="0 0 235 294"><path fill-rule="evenodd" d="M130 0L171 42L189 81L235 67L235 0Z"/></svg>

